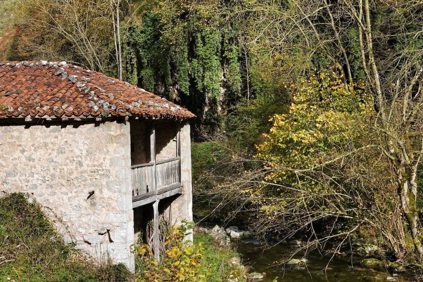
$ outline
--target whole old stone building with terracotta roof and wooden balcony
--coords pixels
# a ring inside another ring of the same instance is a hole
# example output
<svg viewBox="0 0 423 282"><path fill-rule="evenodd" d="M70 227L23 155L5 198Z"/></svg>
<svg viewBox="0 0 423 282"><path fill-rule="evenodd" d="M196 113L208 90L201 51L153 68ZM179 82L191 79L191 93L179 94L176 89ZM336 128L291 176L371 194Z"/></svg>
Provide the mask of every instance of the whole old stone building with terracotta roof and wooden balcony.
<svg viewBox="0 0 423 282"><path fill-rule="evenodd" d="M66 241L132 268L138 234L158 249L160 219L192 220L193 117L66 62L0 63L0 191L32 194Z"/></svg>

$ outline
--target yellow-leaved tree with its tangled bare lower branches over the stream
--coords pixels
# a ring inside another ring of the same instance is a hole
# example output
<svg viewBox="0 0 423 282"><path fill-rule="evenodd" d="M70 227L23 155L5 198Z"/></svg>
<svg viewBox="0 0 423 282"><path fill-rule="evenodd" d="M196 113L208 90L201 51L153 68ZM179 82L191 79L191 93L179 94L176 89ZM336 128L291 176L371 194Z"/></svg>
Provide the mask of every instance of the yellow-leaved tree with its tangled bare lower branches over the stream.
<svg viewBox="0 0 423 282"><path fill-rule="evenodd" d="M261 230L288 236L308 230L316 246L333 237L345 241L361 225L371 225L399 251L403 227L386 224L401 216L393 208L396 189L386 165L377 161L382 152L368 127L374 101L363 82L345 87L335 69L315 70L284 86L292 93L289 111L270 118L271 129L256 145L264 170L242 192L257 205Z"/></svg>

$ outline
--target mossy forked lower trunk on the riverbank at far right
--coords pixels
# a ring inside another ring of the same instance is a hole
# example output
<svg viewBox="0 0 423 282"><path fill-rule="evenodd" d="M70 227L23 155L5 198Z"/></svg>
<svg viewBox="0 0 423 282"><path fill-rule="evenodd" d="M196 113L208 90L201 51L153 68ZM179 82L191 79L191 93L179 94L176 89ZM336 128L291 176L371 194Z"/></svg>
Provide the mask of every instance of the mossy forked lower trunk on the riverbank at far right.
<svg viewBox="0 0 423 282"><path fill-rule="evenodd" d="M394 169L398 179L398 195L401 200L401 207L409 223L415 249L419 255L423 255L423 236L420 233L417 209L417 168L418 162L412 166L401 163Z"/></svg>

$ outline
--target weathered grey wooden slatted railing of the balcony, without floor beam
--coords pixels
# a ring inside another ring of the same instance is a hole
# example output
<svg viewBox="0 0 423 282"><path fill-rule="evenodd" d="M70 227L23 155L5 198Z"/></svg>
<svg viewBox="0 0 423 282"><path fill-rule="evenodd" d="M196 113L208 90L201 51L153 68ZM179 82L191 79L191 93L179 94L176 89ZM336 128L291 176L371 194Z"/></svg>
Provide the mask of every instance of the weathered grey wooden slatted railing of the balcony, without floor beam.
<svg viewBox="0 0 423 282"><path fill-rule="evenodd" d="M162 189L181 183L181 158L167 159L132 167L132 197L154 194ZM156 171L156 177L154 177ZM157 187L156 187L157 183Z"/></svg>

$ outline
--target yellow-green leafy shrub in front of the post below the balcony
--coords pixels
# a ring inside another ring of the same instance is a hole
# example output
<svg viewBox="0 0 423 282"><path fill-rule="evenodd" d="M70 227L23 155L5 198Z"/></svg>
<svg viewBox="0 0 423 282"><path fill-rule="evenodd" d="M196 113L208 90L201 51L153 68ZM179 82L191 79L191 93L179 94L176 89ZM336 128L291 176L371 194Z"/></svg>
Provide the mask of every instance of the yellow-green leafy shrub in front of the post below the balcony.
<svg viewBox="0 0 423 282"><path fill-rule="evenodd" d="M141 261L143 269L137 281L198 281L205 282L210 274L207 266L202 266L201 258L205 252L202 244L193 245L185 237L191 234L193 222L183 221L180 226L169 230L166 236L165 252L158 262L150 246L134 246L134 252Z"/></svg>

